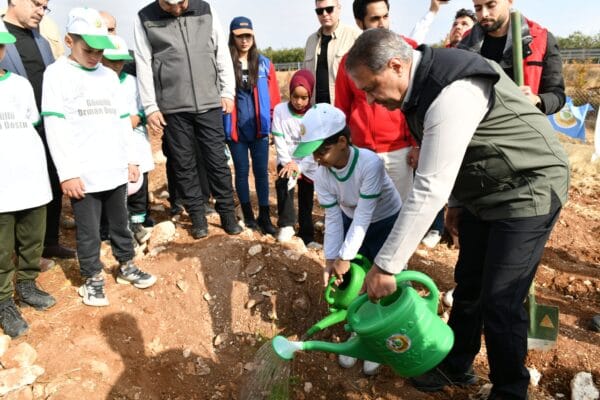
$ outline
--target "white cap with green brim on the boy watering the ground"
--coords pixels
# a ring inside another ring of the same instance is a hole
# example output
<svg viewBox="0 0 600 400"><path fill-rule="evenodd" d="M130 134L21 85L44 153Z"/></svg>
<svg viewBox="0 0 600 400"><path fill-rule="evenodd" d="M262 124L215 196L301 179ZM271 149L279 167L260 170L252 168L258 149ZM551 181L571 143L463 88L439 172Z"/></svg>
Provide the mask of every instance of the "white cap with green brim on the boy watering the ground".
<svg viewBox="0 0 600 400"><path fill-rule="evenodd" d="M346 127L346 115L329 103L315 104L304 114L300 125L300 143L294 157L306 157L317 150L325 139Z"/></svg>

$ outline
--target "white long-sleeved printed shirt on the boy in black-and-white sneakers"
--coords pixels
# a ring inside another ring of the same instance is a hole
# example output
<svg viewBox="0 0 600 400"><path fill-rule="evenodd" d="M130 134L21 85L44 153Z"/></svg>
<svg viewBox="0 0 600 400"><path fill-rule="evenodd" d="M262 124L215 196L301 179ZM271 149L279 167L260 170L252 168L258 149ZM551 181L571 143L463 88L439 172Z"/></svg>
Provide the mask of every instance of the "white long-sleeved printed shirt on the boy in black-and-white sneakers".
<svg viewBox="0 0 600 400"><path fill-rule="evenodd" d="M114 71L59 58L44 72L42 115L61 182L79 177L86 193L110 190L127 182L128 163L139 164Z"/></svg>

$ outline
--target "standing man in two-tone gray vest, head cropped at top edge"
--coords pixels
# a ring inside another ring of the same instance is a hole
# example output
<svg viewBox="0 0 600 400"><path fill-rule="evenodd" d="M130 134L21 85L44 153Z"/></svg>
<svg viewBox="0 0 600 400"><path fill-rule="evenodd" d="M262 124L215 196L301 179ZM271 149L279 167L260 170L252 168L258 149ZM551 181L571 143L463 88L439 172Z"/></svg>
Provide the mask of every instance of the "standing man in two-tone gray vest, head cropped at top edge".
<svg viewBox="0 0 600 400"><path fill-rule="evenodd" d="M163 141L195 239L208 235L197 160L205 161L221 226L239 234L222 114L235 95L233 63L219 19L202 0L156 0L135 20L135 60L148 125Z"/></svg>

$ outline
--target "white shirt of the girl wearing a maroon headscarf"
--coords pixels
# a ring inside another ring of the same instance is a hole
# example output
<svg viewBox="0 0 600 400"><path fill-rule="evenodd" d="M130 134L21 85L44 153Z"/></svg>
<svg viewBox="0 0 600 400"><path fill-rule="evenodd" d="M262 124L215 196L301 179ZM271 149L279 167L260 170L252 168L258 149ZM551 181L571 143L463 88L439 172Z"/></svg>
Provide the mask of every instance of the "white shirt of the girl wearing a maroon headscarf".
<svg viewBox="0 0 600 400"><path fill-rule="evenodd" d="M313 157L292 157L296 147L298 147L298 143L300 143L302 118L302 115L293 114L290 111L288 102L277 104L273 109L271 133L275 139L277 165L285 166L293 160L298 165L298 168L300 168L300 172L314 181L318 166Z"/></svg>

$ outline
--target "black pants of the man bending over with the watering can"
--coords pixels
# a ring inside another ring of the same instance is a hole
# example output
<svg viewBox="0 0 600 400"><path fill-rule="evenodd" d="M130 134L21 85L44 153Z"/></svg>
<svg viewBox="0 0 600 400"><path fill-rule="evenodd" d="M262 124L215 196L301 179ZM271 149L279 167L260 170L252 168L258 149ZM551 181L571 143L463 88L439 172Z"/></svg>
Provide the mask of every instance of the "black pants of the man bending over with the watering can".
<svg viewBox="0 0 600 400"><path fill-rule="evenodd" d="M443 365L466 371L479 353L483 329L492 391L502 398L527 396L528 316L523 302L559 213L554 198L551 212L543 216L483 221L463 210L460 217L448 322L455 343Z"/></svg>

